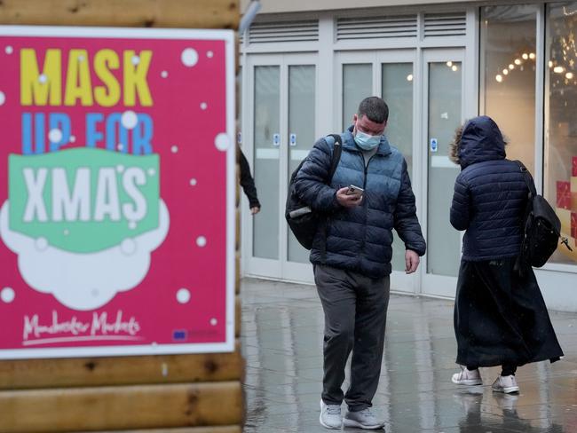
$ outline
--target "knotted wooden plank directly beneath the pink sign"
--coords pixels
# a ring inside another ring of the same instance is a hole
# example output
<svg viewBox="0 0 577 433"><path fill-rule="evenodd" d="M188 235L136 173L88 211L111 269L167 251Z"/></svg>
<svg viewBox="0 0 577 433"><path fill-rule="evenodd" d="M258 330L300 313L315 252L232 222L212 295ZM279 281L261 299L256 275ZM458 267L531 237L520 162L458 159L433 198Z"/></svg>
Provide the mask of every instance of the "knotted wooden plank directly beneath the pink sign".
<svg viewBox="0 0 577 433"><path fill-rule="evenodd" d="M242 366L239 342L233 353L4 360L0 390L233 381Z"/></svg>

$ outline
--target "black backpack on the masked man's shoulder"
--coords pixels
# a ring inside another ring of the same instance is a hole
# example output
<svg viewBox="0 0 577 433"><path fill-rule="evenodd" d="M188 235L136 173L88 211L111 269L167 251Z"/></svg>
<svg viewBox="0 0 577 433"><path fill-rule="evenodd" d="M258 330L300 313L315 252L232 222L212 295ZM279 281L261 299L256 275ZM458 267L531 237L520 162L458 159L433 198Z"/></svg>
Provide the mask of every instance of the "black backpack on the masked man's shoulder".
<svg viewBox="0 0 577 433"><path fill-rule="evenodd" d="M341 160L341 152L343 151L343 140L340 135L331 134L328 137L335 139L335 147L330 161L330 168L328 169L328 179L326 180L327 185L329 185L333 179L336 166ZM312 240L314 239L314 235L319 229L320 221L324 216L320 214L319 211L312 210L296 194L296 174L301 167L303 167L304 161L306 161L307 158L304 158L304 160L298 164L295 171L293 171L292 175L290 175L284 216L287 219L288 227L290 227L290 230L295 234L296 240L298 240L304 248L311 249Z"/></svg>

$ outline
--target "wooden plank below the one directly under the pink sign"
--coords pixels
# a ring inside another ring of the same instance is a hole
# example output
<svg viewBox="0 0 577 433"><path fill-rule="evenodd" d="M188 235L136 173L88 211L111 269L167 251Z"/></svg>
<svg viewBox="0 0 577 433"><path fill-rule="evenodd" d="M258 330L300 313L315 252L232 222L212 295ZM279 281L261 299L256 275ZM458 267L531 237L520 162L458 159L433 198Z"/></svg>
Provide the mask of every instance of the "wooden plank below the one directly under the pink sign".
<svg viewBox="0 0 577 433"><path fill-rule="evenodd" d="M5 433L230 426L241 421L241 382L0 392Z"/></svg>

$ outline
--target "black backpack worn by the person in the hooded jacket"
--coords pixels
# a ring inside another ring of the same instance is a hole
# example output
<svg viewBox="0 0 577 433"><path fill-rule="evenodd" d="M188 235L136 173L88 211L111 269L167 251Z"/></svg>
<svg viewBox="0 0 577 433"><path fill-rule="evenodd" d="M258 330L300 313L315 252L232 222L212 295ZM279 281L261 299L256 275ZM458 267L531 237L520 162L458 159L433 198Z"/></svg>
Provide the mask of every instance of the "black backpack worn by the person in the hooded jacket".
<svg viewBox="0 0 577 433"><path fill-rule="evenodd" d="M522 240L519 258L525 264L540 268L547 263L549 257L557 249L561 236L561 221L555 209L551 208L549 202L537 193L533 177L523 162L516 162L529 188L525 216L521 224ZM566 238L562 238L561 243L573 251Z"/></svg>

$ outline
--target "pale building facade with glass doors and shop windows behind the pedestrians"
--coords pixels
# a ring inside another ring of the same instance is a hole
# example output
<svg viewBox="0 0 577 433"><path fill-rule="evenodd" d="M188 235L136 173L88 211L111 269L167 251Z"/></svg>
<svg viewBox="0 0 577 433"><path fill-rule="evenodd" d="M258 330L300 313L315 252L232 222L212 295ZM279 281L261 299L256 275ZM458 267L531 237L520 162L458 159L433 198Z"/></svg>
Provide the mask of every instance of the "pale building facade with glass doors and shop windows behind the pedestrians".
<svg viewBox="0 0 577 433"><path fill-rule="evenodd" d="M312 282L308 251L284 220L288 178L317 138L349 127L360 99L379 95L428 241L407 276L395 240L391 288L454 296L462 233L448 213L459 167L447 147L462 122L487 114L573 248L536 272L543 295L577 311L577 2L428 3L264 0L241 38L239 139L263 204L243 216L243 273Z"/></svg>

